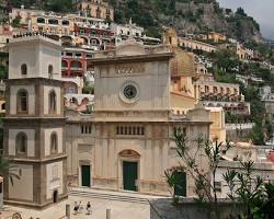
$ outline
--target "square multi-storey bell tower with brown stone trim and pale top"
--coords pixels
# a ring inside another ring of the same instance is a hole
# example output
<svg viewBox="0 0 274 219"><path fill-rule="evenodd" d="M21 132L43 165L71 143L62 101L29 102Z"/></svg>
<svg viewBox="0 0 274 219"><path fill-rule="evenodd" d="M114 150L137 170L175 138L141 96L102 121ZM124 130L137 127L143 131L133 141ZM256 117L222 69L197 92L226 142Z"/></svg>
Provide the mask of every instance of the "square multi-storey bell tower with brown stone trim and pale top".
<svg viewBox="0 0 274 219"><path fill-rule="evenodd" d="M61 45L45 36L9 43L4 155L20 180L5 180L9 204L44 208L67 197Z"/></svg>

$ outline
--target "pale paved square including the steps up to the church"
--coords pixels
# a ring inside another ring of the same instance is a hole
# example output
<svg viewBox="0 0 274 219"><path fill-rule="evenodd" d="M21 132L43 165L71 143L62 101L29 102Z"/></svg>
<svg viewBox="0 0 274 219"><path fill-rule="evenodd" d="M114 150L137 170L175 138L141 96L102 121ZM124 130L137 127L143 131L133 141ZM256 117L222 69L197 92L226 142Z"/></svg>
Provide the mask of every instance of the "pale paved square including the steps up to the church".
<svg viewBox="0 0 274 219"><path fill-rule="evenodd" d="M136 193L117 193L90 188L73 188L69 198L44 210L4 206L0 219L11 219L20 212L22 219L65 219L66 204L70 204L70 219L106 219L106 209L111 209L111 219L149 219L148 199L163 198L160 196L140 195ZM73 214L75 201L82 201L83 211ZM91 203L92 215L87 215L85 205Z"/></svg>

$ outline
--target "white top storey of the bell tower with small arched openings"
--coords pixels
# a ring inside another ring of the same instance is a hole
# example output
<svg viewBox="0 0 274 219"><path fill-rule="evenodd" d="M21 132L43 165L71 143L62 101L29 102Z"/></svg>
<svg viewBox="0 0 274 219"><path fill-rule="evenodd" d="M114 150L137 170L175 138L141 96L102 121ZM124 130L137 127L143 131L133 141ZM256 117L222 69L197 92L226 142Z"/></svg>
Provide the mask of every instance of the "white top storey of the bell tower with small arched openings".
<svg viewBox="0 0 274 219"><path fill-rule="evenodd" d="M61 79L61 44L45 35L15 35L8 44L9 79Z"/></svg>

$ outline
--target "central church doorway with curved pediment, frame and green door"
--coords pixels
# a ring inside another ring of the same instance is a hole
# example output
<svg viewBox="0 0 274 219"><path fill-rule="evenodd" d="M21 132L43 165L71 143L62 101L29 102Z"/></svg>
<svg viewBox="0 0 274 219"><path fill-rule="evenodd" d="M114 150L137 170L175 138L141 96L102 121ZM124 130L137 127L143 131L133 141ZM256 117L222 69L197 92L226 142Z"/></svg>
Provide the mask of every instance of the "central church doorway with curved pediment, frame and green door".
<svg viewBox="0 0 274 219"><path fill-rule="evenodd" d="M134 150L123 150L119 158L123 171L123 189L138 191L140 154Z"/></svg>

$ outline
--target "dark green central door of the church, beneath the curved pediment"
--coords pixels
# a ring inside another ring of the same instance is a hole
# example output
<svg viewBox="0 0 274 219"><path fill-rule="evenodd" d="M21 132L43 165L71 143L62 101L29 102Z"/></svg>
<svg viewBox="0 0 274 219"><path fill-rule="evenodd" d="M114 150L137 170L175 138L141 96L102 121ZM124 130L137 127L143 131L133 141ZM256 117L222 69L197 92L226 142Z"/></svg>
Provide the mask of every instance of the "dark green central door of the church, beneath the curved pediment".
<svg viewBox="0 0 274 219"><path fill-rule="evenodd" d="M135 184L138 177L137 174L137 162L123 162L123 181L124 181L124 189L125 191L137 191L137 186Z"/></svg>

